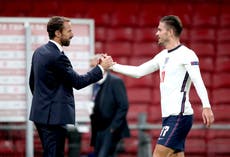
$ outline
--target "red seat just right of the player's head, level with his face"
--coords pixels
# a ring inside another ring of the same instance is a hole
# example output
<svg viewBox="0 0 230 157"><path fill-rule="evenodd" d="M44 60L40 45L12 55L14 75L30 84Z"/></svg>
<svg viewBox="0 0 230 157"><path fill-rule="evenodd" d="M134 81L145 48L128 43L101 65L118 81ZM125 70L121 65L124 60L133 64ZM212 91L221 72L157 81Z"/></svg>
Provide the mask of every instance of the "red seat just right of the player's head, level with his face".
<svg viewBox="0 0 230 157"><path fill-rule="evenodd" d="M214 42L216 40L215 29L196 28L190 31L190 40L197 42Z"/></svg>

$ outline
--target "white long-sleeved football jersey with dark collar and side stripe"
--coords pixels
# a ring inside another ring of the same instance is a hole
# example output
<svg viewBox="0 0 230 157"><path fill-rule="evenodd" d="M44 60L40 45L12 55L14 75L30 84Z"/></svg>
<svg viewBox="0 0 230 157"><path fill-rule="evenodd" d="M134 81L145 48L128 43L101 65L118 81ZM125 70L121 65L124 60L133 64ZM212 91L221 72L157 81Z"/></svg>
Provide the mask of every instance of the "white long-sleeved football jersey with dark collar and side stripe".
<svg viewBox="0 0 230 157"><path fill-rule="evenodd" d="M159 70L162 117L170 115L191 115L189 90L193 82L203 107L210 107L207 90L201 78L199 60L191 49L179 45L164 49L153 59L140 66L115 64L113 71L139 78Z"/></svg>

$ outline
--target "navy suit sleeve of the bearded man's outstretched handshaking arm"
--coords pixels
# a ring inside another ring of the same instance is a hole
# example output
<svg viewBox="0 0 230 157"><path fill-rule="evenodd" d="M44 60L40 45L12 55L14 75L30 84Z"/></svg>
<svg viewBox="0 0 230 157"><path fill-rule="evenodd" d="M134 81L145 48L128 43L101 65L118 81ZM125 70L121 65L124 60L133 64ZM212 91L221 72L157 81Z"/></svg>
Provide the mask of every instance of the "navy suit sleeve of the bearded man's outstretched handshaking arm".
<svg viewBox="0 0 230 157"><path fill-rule="evenodd" d="M75 89L84 88L91 83L97 82L103 77L102 71L98 66L84 75L79 75L74 71L69 59L65 55L60 55L54 68L56 69L58 77Z"/></svg>

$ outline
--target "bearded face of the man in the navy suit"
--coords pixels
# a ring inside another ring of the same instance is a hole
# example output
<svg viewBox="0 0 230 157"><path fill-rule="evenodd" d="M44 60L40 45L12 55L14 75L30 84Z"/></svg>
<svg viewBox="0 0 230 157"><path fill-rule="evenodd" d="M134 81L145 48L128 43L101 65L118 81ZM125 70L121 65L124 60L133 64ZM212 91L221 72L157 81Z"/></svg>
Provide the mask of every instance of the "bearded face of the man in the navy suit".
<svg viewBox="0 0 230 157"><path fill-rule="evenodd" d="M64 22L64 28L61 32L60 42L62 46L69 46L70 40L73 38L73 32L70 22Z"/></svg>

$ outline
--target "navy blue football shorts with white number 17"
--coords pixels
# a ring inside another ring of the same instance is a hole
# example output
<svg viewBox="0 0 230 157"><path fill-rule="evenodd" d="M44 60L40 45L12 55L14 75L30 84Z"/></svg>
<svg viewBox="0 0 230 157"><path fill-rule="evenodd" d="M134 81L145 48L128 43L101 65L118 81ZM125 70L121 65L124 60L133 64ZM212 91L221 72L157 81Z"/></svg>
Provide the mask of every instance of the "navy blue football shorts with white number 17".
<svg viewBox="0 0 230 157"><path fill-rule="evenodd" d="M157 143L175 152L184 152L185 139L192 127L193 115L169 116L162 120L162 130Z"/></svg>

